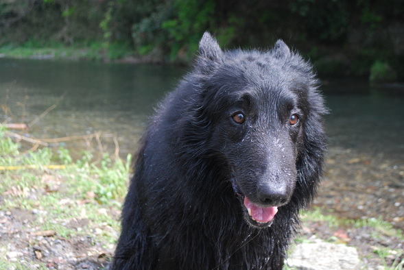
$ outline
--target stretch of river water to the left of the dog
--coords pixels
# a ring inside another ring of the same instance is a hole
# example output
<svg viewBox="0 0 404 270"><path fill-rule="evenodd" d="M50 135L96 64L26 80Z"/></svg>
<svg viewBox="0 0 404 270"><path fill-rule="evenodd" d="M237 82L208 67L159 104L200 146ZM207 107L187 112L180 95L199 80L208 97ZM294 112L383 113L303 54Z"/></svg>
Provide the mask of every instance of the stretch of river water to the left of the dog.
<svg viewBox="0 0 404 270"><path fill-rule="evenodd" d="M0 121L29 123L64 95L29 130L37 138L117 133L121 155L136 148L158 99L185 73L170 66L0 59ZM25 108L23 107L25 105ZM75 142L67 147L82 147Z"/></svg>

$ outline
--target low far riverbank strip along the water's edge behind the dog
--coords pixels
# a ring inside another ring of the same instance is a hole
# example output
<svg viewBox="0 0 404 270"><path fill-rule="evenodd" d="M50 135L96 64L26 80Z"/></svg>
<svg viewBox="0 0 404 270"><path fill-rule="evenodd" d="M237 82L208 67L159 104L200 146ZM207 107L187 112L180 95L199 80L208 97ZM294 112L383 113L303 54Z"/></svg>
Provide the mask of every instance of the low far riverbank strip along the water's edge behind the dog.
<svg viewBox="0 0 404 270"><path fill-rule="evenodd" d="M292 46L292 45L291 45ZM328 51L323 48L324 51ZM197 52L195 51L194 54ZM367 63L367 66L357 67L357 62L348 60L350 56L343 51L325 54L305 53L302 55L311 60L318 75L326 77L354 76L367 77L372 84L399 85L402 88L403 77L400 72L394 70L388 62L377 60ZM172 61L161 55L148 53L139 55L130 47L117 43L115 46L106 45L103 42L92 42L88 45L65 46L56 43L53 46L40 47L30 43L21 46L5 45L0 47L0 58L35 59L35 60L68 60L68 61L97 61L130 64L176 64L184 66L191 62L192 57L187 59L178 58ZM360 62L360 61L359 61Z"/></svg>

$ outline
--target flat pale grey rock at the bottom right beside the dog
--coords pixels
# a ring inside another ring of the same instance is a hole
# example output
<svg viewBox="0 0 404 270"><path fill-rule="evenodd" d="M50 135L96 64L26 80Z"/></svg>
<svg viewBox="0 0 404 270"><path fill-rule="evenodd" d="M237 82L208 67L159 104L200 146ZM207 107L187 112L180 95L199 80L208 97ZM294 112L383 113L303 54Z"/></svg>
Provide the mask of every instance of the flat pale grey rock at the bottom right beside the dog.
<svg viewBox="0 0 404 270"><path fill-rule="evenodd" d="M298 270L352 270L360 268L355 247L316 241L301 243L292 249L287 265Z"/></svg>

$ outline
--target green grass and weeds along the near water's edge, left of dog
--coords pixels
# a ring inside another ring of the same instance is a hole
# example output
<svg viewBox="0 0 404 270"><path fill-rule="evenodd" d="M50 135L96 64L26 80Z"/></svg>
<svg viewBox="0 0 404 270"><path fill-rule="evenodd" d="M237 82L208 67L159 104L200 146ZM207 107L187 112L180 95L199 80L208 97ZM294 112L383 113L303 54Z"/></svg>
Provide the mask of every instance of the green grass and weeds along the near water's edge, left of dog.
<svg viewBox="0 0 404 270"><path fill-rule="evenodd" d="M10 168L3 169L10 170L10 175L14 175L14 172L19 175L18 182L14 182L12 178L3 180L3 191L11 186L19 186L22 191L37 186L40 182L38 173L43 173L46 166L57 162L66 165L65 171L60 171L61 175L73 175L73 180L69 182L75 185L75 195L81 193L81 196L85 196L87 192L95 191L99 203L113 204L113 201L122 199L126 194L131 155L123 162L119 158L112 160L109 154L103 154L99 162L91 163L93 155L87 151L83 152L80 160L74 161L69 150L62 147L56 151L57 155L48 147L20 155L18 148L19 144L5 136L5 129L0 126L0 166Z"/></svg>

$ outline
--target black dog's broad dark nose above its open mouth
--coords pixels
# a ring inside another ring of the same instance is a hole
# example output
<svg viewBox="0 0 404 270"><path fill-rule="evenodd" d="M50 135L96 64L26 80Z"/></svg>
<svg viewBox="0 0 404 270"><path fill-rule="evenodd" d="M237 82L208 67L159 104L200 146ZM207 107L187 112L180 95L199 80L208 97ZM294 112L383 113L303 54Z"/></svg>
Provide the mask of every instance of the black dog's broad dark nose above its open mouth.
<svg viewBox="0 0 404 270"><path fill-rule="evenodd" d="M286 186L262 186L257 192L257 199L264 206L283 206L289 201L290 195Z"/></svg>

